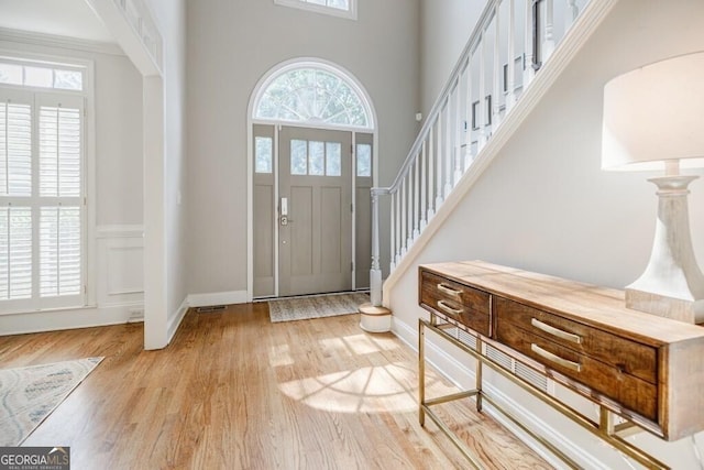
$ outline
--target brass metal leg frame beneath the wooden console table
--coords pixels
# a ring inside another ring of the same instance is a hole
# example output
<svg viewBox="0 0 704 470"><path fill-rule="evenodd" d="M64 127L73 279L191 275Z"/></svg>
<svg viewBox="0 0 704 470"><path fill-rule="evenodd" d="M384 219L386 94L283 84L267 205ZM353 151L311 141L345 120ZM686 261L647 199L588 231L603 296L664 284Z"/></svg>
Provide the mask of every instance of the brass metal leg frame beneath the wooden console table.
<svg viewBox="0 0 704 470"><path fill-rule="evenodd" d="M488 402L496 411L501 412L502 415L506 416L512 423L518 426L521 430L528 434L531 438L536 439L547 449L549 449L554 456L560 458L563 462L565 462L569 467L579 469L581 468L572 458L570 458L562 450L557 448L552 442L550 442L544 437L536 434L529 427L527 427L524 423L521 423L517 417L510 414L510 412L504 409L499 404L487 396L486 392L482 389L482 369L483 365L492 368L492 370L498 372L504 378L509 380L510 382L519 385L522 390L529 392L537 398L550 405L552 408L560 412L563 416L566 416L574 423L579 424L583 428L590 430L592 434L597 436L603 441L609 444L615 449L619 450L624 455L632 458L637 462L641 463L648 469L670 469L669 466L659 461L654 457L650 456L642 449L634 446L631 442L624 439L624 436L628 434L632 434L634 430L641 431L642 429L638 427L636 424L631 422L622 423L618 425L614 424L615 414L598 404L600 406L600 420L594 422L593 419L584 416L576 409L568 406L566 404L560 402L558 398L547 394L546 392L536 389L530 383L524 381L521 378L515 375L512 371L505 369L499 363L493 361L490 357L484 354L483 352L483 343L485 340L481 337L481 335L463 330L471 334L476 339L476 348L471 348L464 342L460 341L457 338L453 338L444 330L448 328L459 328L460 326L452 323L451 320L447 320L442 318L442 324L438 323L438 316L433 313L430 313L430 321L419 318L418 319L418 420L421 426L426 425L426 415L432 419L432 422L438 426L438 428L452 441L452 444L462 452L464 457L470 461L470 463L475 469L482 469L482 463L479 461L476 456L469 449L465 442L463 442L441 419L440 417L431 409L431 406L439 405L442 403L453 402L457 400L470 398L474 397L476 401L476 411L482 412L483 402ZM476 384L475 389L468 390L459 393L453 393L450 395L439 396L435 398L426 397L426 351L425 351L425 342L426 342L426 328L438 335L440 338L449 341L454 345L462 351L469 353L476 360Z"/></svg>

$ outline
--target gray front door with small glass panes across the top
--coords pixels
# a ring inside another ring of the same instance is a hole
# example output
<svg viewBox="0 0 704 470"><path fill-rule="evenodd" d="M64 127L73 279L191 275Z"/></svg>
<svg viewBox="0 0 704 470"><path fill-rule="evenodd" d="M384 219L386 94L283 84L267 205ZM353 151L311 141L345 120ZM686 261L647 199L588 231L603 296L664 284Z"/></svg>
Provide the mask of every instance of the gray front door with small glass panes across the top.
<svg viewBox="0 0 704 470"><path fill-rule="evenodd" d="M351 153L350 132L280 130L280 296L352 288Z"/></svg>

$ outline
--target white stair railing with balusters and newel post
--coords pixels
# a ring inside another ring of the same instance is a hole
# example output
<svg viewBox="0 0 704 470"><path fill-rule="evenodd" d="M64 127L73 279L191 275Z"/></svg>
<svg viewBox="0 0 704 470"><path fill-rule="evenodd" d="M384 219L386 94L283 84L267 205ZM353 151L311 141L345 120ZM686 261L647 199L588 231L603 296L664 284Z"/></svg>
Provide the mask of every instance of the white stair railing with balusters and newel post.
<svg viewBox="0 0 704 470"><path fill-rule="evenodd" d="M391 196L393 272L586 3L487 2L398 175L372 188L372 305L382 305L380 198Z"/></svg>

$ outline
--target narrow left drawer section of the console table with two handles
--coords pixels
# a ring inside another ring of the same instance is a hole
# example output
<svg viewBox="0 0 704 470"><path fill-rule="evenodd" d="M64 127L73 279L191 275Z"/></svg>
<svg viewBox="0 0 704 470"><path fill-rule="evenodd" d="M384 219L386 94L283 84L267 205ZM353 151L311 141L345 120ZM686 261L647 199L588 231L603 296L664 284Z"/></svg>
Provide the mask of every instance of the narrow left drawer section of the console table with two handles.
<svg viewBox="0 0 704 470"><path fill-rule="evenodd" d="M484 336L491 336L490 295L464 284L422 271L420 304L457 320Z"/></svg>

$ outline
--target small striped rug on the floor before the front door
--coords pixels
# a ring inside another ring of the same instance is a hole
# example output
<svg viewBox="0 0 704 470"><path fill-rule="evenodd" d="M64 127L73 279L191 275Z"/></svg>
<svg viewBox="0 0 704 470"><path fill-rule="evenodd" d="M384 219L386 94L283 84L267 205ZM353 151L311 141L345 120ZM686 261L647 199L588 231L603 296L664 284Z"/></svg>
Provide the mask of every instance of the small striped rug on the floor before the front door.
<svg viewBox="0 0 704 470"><path fill-rule="evenodd" d="M308 297L279 298L268 302L272 323L306 320L356 314L360 305L370 302L366 293L315 295Z"/></svg>

